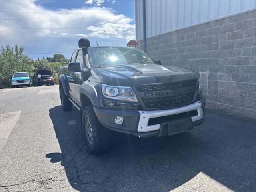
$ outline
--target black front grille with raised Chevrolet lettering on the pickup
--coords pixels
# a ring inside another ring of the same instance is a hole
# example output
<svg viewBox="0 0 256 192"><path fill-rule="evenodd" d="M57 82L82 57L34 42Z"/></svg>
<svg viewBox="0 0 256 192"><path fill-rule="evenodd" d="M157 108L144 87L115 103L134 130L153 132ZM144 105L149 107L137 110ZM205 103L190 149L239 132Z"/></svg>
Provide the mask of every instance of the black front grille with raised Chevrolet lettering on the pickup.
<svg viewBox="0 0 256 192"><path fill-rule="evenodd" d="M173 84L136 86L137 96L145 109L185 106L194 102L197 80Z"/></svg>

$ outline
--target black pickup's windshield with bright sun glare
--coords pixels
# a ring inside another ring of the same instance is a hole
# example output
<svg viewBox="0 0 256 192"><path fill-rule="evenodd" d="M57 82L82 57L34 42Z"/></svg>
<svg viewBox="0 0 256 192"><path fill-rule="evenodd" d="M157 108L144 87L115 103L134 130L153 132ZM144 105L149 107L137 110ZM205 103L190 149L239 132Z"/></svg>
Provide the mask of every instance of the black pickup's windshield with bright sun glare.
<svg viewBox="0 0 256 192"><path fill-rule="evenodd" d="M156 64L148 55L135 48L92 47L88 48L88 54L92 68L135 63Z"/></svg>

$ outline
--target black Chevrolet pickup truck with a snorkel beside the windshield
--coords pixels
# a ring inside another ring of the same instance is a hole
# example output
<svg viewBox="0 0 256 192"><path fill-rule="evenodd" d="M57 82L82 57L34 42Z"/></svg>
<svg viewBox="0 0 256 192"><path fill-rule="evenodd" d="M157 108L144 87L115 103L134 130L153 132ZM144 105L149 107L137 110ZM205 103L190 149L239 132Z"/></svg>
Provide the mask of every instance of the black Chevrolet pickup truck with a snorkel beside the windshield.
<svg viewBox="0 0 256 192"><path fill-rule="evenodd" d="M63 110L80 110L90 152L108 150L112 131L162 137L204 122L196 72L162 66L137 48L78 45L61 67L60 100Z"/></svg>

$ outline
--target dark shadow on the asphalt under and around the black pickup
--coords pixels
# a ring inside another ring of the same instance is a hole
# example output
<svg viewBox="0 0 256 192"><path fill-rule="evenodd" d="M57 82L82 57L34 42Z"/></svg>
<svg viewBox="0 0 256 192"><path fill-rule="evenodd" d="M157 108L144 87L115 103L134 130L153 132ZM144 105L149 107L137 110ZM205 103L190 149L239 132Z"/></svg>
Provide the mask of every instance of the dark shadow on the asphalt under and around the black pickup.
<svg viewBox="0 0 256 192"><path fill-rule="evenodd" d="M78 110L64 112L56 106L49 115L61 153L46 157L61 162L78 191L179 190L200 172L231 190L255 191L255 120L206 112L204 124L175 136L137 139L115 134L111 150L94 156L87 150ZM194 190L205 182L196 179Z"/></svg>

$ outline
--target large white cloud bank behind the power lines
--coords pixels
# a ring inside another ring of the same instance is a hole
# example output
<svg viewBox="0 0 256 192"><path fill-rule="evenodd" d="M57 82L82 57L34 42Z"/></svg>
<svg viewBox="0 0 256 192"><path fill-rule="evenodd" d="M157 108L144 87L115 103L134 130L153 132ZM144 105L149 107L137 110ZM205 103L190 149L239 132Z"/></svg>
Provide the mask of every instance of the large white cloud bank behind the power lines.
<svg viewBox="0 0 256 192"><path fill-rule="evenodd" d="M18 44L24 46L24 52L26 53L72 52L78 46L79 37L89 38L92 46L96 45L96 40L101 45L126 46L128 40L135 39L135 25L130 24L133 19L122 14L116 14L115 10L110 8L93 6L50 10L36 5L34 1L19 1L18 4L16 1L1 1L1 10L38 12L1 12L1 19L8 18L14 20L1 20L0 33L3 39L0 39L0 46L6 46L7 44L14 46ZM52 54L30 56L41 58L42 56L52 56ZM70 53L67 53L65 56L70 57Z"/></svg>

